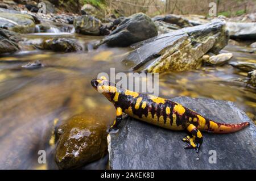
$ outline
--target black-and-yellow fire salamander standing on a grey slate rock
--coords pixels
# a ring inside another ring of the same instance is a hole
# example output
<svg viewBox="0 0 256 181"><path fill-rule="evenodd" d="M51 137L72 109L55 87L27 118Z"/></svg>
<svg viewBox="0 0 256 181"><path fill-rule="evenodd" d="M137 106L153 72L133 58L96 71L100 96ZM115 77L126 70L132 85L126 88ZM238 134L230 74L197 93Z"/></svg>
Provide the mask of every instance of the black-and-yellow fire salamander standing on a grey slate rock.
<svg viewBox="0 0 256 181"><path fill-rule="evenodd" d="M110 131L118 129L118 125L122 120L122 112L125 112L135 119L158 125L159 127L178 131L187 129L191 136L181 139L188 143L184 148L195 149L196 153L198 153L200 146L203 144L201 131L232 133L250 124L249 122L239 124L217 123L171 100L119 89L105 77L93 79L91 83L94 89L102 92L116 108L117 117L112 127L110 127Z"/></svg>

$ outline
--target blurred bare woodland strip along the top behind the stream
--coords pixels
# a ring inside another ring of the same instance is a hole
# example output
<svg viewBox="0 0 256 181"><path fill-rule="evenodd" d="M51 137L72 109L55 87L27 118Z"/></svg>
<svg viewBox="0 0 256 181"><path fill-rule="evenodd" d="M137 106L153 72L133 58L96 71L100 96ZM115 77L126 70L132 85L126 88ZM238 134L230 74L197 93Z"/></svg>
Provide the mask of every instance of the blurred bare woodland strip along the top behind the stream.
<svg viewBox="0 0 256 181"><path fill-rule="evenodd" d="M112 9L122 10L125 15L136 12L208 15L210 2L216 2L218 14L226 16L256 12L255 0L108 0L106 3Z"/></svg>

